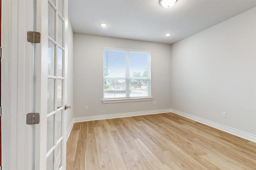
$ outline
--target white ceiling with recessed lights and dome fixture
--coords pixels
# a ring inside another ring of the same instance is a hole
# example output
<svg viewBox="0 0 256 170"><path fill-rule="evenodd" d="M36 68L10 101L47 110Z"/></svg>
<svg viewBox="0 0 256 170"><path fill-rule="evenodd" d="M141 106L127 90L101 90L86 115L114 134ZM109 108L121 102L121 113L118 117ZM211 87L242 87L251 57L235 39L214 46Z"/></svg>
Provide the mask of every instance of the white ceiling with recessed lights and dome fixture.
<svg viewBox="0 0 256 170"><path fill-rule="evenodd" d="M74 33L172 44L256 7L256 0L69 0ZM100 23L107 23L101 27ZM239 23L238 23L239 24ZM166 33L172 33L166 37Z"/></svg>

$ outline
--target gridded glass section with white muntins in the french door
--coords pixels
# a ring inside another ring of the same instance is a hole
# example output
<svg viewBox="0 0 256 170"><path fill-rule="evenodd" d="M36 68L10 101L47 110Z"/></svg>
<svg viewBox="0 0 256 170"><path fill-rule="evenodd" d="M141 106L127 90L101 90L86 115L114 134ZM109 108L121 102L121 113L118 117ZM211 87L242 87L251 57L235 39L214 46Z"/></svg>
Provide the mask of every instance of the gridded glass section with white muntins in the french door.
<svg viewBox="0 0 256 170"><path fill-rule="evenodd" d="M48 0L47 170L63 165L64 1Z"/></svg>

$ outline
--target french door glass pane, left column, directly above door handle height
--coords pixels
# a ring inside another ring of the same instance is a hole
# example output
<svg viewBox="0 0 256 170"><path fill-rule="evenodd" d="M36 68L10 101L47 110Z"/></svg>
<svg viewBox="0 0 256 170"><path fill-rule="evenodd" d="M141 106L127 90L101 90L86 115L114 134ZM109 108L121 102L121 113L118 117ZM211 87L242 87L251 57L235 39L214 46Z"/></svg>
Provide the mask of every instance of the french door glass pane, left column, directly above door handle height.
<svg viewBox="0 0 256 170"><path fill-rule="evenodd" d="M54 111L54 79L48 78L47 113Z"/></svg>

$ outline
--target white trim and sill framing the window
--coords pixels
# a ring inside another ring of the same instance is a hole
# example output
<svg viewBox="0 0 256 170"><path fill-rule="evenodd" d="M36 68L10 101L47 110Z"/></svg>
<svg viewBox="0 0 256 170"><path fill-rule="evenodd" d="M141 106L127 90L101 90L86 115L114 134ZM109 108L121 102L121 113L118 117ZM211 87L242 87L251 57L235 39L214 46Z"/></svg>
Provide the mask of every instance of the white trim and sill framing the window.
<svg viewBox="0 0 256 170"><path fill-rule="evenodd" d="M106 47L106 46L103 46L103 60L104 60L104 49L108 50L121 50L121 51L126 51L129 52L129 51L134 51L134 52L142 52L142 53L149 53L150 54L150 72L152 72L152 67L151 67L151 64L152 64L152 52L151 51L146 51L146 50L138 50L138 49L126 49L126 48L117 48L117 47ZM127 58L126 58L127 59ZM127 62L126 62L127 64ZM147 79L149 80L149 88L148 88L148 92L149 92L149 95L150 96L144 96L144 97L124 97L124 98L104 98L104 87L103 87L103 99L102 99L102 102L104 104L106 103L120 103L120 102L139 102L139 101L151 101L152 100L152 94L151 94L151 74L150 74L150 79ZM103 82L104 82L104 74L103 74ZM104 83L103 83L104 84Z"/></svg>

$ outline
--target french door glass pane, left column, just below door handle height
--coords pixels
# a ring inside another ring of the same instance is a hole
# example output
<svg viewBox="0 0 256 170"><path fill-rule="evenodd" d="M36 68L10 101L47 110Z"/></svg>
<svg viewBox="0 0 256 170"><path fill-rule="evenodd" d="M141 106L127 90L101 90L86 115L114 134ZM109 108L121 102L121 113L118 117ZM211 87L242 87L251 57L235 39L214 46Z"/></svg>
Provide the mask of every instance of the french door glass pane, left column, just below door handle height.
<svg viewBox="0 0 256 170"><path fill-rule="evenodd" d="M54 145L54 115L47 118L47 152Z"/></svg>

